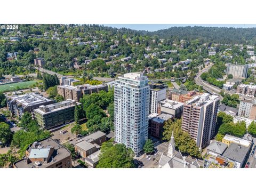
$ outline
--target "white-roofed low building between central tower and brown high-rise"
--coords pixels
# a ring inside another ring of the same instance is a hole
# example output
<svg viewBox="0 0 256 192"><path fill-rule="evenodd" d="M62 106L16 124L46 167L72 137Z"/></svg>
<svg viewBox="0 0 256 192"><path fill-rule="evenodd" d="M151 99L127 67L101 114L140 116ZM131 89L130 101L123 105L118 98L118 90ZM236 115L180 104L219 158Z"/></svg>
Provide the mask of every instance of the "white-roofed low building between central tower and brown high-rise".
<svg viewBox="0 0 256 192"><path fill-rule="evenodd" d="M173 118L180 118L183 112L184 103L165 99L159 101L158 114L169 114L173 115Z"/></svg>

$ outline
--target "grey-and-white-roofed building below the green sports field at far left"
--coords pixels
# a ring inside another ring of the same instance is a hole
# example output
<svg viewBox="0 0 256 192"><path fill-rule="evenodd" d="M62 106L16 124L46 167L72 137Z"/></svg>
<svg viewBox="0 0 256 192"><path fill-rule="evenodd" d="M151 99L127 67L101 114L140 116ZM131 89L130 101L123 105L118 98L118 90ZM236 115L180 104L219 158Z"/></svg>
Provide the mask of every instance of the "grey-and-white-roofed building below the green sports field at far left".
<svg viewBox="0 0 256 192"><path fill-rule="evenodd" d="M12 95L7 97L7 108L12 115L21 118L23 113L33 113L34 109L41 105L49 105L53 100L46 99L36 93L27 93L22 95Z"/></svg>

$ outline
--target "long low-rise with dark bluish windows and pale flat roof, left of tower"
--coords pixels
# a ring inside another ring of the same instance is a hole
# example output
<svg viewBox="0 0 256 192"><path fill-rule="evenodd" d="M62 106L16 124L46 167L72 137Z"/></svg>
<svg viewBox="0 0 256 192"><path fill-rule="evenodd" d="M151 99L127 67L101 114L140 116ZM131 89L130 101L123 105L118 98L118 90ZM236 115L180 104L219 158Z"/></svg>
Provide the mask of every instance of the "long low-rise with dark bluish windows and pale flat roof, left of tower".
<svg viewBox="0 0 256 192"><path fill-rule="evenodd" d="M81 103L70 99L46 106L42 105L34 110L35 118L41 127L51 129L74 121L76 105L81 105Z"/></svg>

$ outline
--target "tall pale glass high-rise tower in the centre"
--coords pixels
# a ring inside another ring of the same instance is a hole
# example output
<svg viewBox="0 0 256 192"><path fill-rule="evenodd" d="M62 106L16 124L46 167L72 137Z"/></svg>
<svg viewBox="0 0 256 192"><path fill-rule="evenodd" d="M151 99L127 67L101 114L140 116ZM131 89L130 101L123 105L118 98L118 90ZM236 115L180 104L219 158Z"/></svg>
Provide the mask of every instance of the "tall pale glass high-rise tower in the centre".
<svg viewBox="0 0 256 192"><path fill-rule="evenodd" d="M115 140L131 148L136 155L143 151L148 138L150 89L147 76L129 73L115 82Z"/></svg>

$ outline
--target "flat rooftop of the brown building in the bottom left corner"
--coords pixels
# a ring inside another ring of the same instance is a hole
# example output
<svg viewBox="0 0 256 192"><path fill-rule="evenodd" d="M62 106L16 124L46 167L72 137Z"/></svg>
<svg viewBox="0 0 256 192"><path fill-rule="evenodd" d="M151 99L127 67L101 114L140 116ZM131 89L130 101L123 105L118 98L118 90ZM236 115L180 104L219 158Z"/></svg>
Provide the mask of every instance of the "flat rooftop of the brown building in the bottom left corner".
<svg viewBox="0 0 256 192"><path fill-rule="evenodd" d="M36 146L34 145L36 143ZM54 148L53 154L49 158L49 162L40 162L41 165L36 165L35 162L28 161L29 158L39 158L39 157L48 157L49 150ZM40 150L39 150L40 149ZM29 153L29 157L24 157L23 159L14 163L14 165L18 168L45 168L51 166L57 161L61 161L62 159L69 157L71 152L60 143L55 141L52 138L46 138L34 142L30 144L29 147L26 149Z"/></svg>

